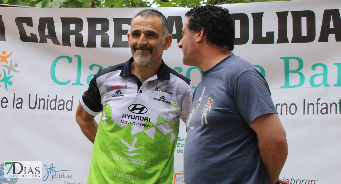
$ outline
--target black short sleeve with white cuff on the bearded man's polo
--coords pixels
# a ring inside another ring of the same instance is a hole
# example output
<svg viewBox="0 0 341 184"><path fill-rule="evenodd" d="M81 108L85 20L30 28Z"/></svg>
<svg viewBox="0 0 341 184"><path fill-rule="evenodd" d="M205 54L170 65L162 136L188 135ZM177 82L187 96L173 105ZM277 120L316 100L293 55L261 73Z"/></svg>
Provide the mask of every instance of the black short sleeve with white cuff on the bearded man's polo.
<svg viewBox="0 0 341 184"><path fill-rule="evenodd" d="M97 74L90 81L89 88L80 99L80 104L91 115L96 116L103 110L100 90L97 86Z"/></svg>

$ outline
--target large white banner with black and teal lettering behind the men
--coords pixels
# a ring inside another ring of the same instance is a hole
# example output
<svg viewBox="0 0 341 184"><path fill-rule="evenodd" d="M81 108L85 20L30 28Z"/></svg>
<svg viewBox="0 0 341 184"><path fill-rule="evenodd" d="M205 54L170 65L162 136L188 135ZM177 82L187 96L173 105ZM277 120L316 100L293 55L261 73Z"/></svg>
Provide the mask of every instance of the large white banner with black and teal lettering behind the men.
<svg viewBox="0 0 341 184"><path fill-rule="evenodd" d="M236 19L234 54L263 73L286 131L289 153L280 178L291 184L337 183L341 1L222 6ZM93 144L75 121L78 101L99 68L129 60L126 35L141 10L0 7L0 160L42 161L41 179L4 178L1 165L0 183L87 183ZM177 47L188 9L157 10L174 38L165 63L196 86L201 73L182 64ZM181 123L176 184L183 183L185 141Z"/></svg>

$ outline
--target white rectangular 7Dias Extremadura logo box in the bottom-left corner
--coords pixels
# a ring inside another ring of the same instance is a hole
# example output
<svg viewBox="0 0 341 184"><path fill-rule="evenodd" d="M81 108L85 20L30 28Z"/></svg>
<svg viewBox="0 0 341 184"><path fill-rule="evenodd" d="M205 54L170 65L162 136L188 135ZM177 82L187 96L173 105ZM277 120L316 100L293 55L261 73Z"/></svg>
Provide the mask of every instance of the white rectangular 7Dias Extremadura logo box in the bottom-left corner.
<svg viewBox="0 0 341 184"><path fill-rule="evenodd" d="M42 161L4 161L3 178L42 178Z"/></svg>

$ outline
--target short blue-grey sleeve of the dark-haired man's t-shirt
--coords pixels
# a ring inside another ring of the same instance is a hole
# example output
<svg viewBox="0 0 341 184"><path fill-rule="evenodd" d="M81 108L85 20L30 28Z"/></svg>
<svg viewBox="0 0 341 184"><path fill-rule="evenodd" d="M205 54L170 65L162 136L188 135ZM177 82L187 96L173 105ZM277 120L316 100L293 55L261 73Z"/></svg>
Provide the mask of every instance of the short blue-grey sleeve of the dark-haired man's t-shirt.
<svg viewBox="0 0 341 184"><path fill-rule="evenodd" d="M277 113L268 83L255 71L247 70L240 74L234 84L232 96L241 116L249 126L260 115Z"/></svg>

